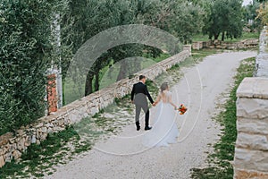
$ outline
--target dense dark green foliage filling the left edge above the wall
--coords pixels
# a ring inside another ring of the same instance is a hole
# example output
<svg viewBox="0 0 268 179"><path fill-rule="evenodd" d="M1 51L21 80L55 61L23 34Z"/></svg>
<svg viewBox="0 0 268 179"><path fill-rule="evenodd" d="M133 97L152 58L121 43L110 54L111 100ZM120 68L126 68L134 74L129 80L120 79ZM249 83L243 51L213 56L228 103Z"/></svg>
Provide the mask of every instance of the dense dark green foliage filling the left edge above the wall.
<svg viewBox="0 0 268 179"><path fill-rule="evenodd" d="M51 6L33 0L1 3L0 133L44 115Z"/></svg>

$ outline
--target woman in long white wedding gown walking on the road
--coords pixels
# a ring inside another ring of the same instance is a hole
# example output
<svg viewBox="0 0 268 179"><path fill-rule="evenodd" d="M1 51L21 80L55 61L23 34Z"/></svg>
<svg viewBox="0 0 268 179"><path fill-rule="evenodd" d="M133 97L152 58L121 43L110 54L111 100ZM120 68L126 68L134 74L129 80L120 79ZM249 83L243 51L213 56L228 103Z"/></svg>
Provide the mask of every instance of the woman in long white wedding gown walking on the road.
<svg viewBox="0 0 268 179"><path fill-rule="evenodd" d="M161 92L155 101L155 123L143 139L143 144L147 147L168 146L169 143L175 143L179 135L175 122L178 107L172 103L172 92L169 91L168 83L164 82L160 89Z"/></svg>

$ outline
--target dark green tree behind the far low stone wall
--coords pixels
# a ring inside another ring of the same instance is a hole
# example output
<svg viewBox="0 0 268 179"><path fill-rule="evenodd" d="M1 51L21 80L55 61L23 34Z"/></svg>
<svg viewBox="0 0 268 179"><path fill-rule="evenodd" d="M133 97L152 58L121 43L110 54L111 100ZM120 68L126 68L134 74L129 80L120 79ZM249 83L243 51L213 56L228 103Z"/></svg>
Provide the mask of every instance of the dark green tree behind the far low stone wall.
<svg viewBox="0 0 268 179"><path fill-rule="evenodd" d="M215 0L211 4L211 14L204 28L209 38L239 38L243 30L241 0Z"/></svg>

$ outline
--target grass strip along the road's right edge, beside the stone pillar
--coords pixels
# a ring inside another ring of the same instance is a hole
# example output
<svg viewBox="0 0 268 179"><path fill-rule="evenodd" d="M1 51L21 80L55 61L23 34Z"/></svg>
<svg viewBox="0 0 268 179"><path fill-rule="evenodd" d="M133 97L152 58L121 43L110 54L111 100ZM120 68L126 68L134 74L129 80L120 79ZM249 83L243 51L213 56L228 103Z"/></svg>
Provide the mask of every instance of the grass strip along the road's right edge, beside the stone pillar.
<svg viewBox="0 0 268 179"><path fill-rule="evenodd" d="M209 166L205 168L193 168L192 178L198 179L232 179L233 168L231 161L234 158L236 129L236 91L240 82L245 77L252 77L255 70L255 58L248 58L240 64L235 76L234 87L230 90L230 96L223 105L224 109L215 117L223 127L221 140L214 144L214 153L209 154L207 161Z"/></svg>

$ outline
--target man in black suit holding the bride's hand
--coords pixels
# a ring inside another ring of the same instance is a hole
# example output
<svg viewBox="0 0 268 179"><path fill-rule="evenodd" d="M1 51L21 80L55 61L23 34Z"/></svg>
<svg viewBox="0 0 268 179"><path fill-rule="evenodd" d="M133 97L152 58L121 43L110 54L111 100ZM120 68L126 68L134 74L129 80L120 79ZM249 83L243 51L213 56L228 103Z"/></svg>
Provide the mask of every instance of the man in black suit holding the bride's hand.
<svg viewBox="0 0 268 179"><path fill-rule="evenodd" d="M136 106L135 119L136 119L137 131L139 131L140 129L139 114L140 114L141 108L146 114L145 130L147 131L147 130L152 129L152 127L149 126L149 107L148 107L147 98L149 98L150 102L153 104L154 107L155 107L155 102L147 90L147 85L145 84L146 81L147 81L146 77L144 75L140 75L139 82L133 85L133 89L131 91L131 102L135 104Z"/></svg>

